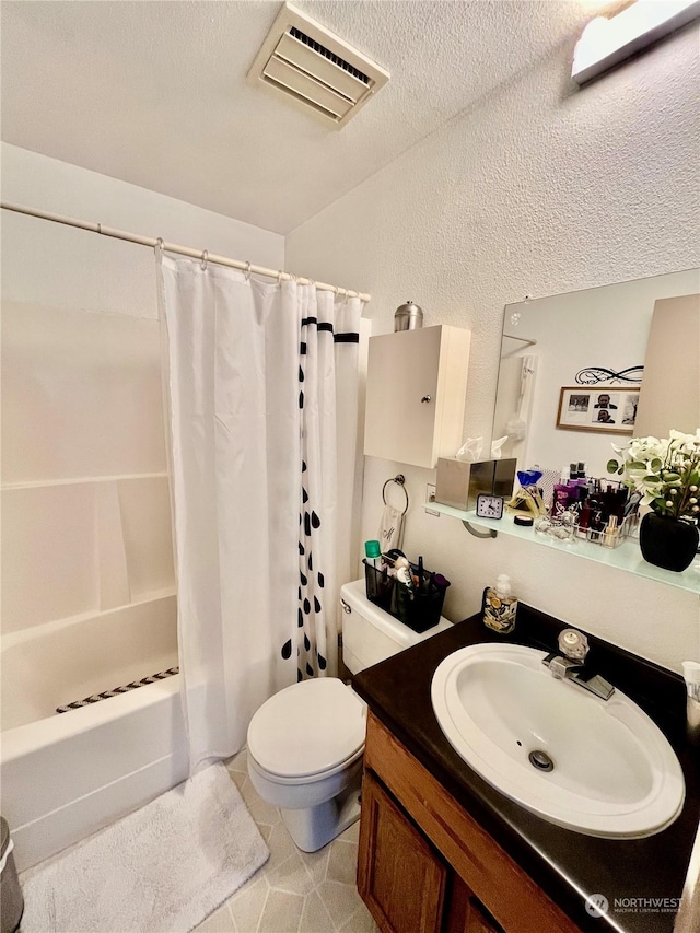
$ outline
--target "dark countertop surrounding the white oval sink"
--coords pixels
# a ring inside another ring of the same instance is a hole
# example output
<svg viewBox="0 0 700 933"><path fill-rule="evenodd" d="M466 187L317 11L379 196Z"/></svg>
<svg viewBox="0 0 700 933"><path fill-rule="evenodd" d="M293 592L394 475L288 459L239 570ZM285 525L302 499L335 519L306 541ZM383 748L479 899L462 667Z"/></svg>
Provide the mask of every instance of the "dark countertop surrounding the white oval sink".
<svg viewBox="0 0 700 933"><path fill-rule="evenodd" d="M491 788L453 749L433 713L432 676L468 644L510 641L551 651L565 626L521 604L510 635L480 615L358 674L353 688L372 712L586 933L672 933L700 816L700 754L685 734L682 678L586 632L586 665L633 699L662 728L686 779L686 802L672 826L645 839L609 840L555 826ZM602 894L609 909L591 917L584 902ZM642 903L628 899L670 899ZM617 899L617 905L616 905ZM664 909L665 908L665 909ZM700 930L700 918L698 919ZM542 931L545 933L545 931Z"/></svg>

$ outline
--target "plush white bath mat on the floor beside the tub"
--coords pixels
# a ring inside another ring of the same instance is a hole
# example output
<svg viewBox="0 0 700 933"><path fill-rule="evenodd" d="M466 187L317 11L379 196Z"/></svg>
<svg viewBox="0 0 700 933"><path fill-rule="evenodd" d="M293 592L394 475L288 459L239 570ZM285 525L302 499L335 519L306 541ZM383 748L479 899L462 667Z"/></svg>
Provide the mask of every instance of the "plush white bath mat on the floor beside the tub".
<svg viewBox="0 0 700 933"><path fill-rule="evenodd" d="M269 854L218 762L24 872L22 933L186 933Z"/></svg>

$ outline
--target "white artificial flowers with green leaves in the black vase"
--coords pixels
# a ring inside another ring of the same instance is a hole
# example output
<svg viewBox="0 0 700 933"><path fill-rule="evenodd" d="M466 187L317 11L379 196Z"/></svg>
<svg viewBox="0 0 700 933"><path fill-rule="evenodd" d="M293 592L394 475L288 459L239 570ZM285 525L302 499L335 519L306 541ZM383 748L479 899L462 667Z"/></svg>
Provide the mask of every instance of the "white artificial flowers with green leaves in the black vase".
<svg viewBox="0 0 700 933"><path fill-rule="evenodd" d="M670 430L668 438L634 438L612 450L608 473L642 494L657 515L697 523L700 517L700 428L695 434Z"/></svg>

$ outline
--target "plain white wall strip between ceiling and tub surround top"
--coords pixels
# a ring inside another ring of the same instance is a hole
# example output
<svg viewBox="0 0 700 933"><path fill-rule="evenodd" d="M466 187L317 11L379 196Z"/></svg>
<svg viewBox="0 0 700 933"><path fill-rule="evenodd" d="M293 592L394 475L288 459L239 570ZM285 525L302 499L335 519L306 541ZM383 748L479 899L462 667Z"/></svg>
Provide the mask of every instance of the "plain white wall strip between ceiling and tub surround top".
<svg viewBox="0 0 700 933"><path fill-rule="evenodd" d="M273 269L283 265L277 233L15 145L0 143L0 158L3 201ZM0 221L5 301L158 317L152 250L9 211Z"/></svg>

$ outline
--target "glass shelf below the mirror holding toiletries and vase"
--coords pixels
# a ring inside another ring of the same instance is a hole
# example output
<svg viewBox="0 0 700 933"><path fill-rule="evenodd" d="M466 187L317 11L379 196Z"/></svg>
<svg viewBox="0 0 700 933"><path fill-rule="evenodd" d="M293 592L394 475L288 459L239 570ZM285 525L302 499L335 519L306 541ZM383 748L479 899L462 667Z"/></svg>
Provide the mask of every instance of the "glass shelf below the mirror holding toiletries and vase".
<svg viewBox="0 0 700 933"><path fill-rule="evenodd" d="M534 528L514 525L513 516L509 513L504 513L502 518L479 518L474 511L464 512L462 509L453 509L452 505L442 505L440 502L427 502L425 508L440 512L442 515L450 515L453 518L459 518L462 522L468 522L477 529L492 530L497 534L500 532L529 544L551 548L572 557L581 557L584 560L593 560L597 563L604 563L606 567L634 573L637 576L645 576L648 580L655 580L657 583L667 583L670 586L677 586L679 590L689 590L691 593L700 594L700 556L696 558L688 570L682 573L674 573L673 570L663 570L661 567L654 567L653 563L646 563L640 552L637 538L626 540L617 548L604 548L581 538L567 544L552 538L550 535L537 534Z"/></svg>

